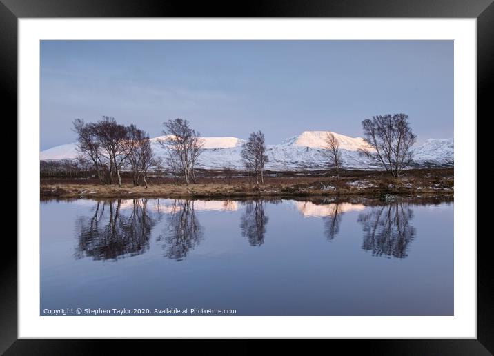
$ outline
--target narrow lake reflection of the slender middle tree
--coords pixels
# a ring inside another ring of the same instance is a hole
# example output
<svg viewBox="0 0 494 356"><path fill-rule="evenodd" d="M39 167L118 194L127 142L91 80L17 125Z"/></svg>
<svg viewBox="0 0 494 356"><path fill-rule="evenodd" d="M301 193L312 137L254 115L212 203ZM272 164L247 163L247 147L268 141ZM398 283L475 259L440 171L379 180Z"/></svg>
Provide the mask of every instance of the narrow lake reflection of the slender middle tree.
<svg viewBox="0 0 494 356"><path fill-rule="evenodd" d="M264 201L252 200L246 202L244 215L241 217L240 228L243 237L247 237L250 246L264 244L268 217L264 214Z"/></svg>

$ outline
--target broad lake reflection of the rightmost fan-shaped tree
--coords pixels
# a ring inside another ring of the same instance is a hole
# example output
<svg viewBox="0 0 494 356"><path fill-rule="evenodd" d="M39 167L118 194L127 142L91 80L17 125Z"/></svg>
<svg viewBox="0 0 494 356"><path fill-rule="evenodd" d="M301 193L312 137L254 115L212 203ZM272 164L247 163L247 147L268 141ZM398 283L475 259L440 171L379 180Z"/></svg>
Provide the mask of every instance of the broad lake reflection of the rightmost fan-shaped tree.
<svg viewBox="0 0 494 356"><path fill-rule="evenodd" d="M409 221L413 210L405 203L375 206L370 212L359 215L364 231L362 248L373 256L405 258L407 247L415 236L415 228Z"/></svg>

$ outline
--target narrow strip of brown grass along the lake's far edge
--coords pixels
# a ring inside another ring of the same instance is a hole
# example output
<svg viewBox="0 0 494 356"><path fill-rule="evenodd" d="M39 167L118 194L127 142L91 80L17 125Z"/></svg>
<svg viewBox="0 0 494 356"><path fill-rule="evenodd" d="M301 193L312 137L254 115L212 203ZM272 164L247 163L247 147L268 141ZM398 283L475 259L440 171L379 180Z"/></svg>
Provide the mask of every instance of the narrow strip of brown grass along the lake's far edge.
<svg viewBox="0 0 494 356"><path fill-rule="evenodd" d="M41 199L86 198L86 199L126 199L126 198L272 198L272 197L343 197L366 196L384 197L396 195L444 196L453 197L454 186L451 177L435 179L344 179L342 181L310 181L306 183L273 184L255 186L246 183L219 184L152 184L147 189L142 186L49 183L41 181Z"/></svg>

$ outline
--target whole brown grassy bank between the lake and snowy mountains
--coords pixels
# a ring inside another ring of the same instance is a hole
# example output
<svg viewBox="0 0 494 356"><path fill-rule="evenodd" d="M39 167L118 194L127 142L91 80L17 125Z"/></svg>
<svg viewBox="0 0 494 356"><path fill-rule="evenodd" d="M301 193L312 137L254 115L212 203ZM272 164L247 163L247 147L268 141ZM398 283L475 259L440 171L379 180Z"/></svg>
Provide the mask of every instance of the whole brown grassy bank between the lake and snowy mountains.
<svg viewBox="0 0 494 356"><path fill-rule="evenodd" d="M453 196L453 170L427 170L405 174L399 179L386 175L348 175L336 181L334 177L268 177L264 186L255 186L247 179L231 179L226 183L217 177L201 179L199 184L158 184L146 189L126 183L101 185L88 181L41 180L41 199L59 198L222 198L222 197L278 197L368 195L450 195Z"/></svg>

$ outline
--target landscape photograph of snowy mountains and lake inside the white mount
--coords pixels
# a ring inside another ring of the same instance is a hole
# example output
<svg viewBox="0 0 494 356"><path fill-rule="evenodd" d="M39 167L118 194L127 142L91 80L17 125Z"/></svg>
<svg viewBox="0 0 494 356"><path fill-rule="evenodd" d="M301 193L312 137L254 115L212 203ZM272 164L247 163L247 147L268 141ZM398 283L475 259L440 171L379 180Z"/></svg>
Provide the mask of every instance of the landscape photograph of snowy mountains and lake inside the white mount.
<svg viewBox="0 0 494 356"><path fill-rule="evenodd" d="M39 315L455 315L454 46L41 39Z"/></svg>

